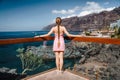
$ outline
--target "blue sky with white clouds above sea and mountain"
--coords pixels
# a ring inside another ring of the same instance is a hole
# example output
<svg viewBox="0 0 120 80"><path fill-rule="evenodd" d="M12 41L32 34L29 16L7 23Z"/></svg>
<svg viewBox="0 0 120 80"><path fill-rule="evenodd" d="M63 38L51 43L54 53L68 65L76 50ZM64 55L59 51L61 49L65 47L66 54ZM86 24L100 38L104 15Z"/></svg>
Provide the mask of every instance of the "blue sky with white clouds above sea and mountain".
<svg viewBox="0 0 120 80"><path fill-rule="evenodd" d="M120 0L0 0L0 32L40 31L56 17L80 17L119 6Z"/></svg>

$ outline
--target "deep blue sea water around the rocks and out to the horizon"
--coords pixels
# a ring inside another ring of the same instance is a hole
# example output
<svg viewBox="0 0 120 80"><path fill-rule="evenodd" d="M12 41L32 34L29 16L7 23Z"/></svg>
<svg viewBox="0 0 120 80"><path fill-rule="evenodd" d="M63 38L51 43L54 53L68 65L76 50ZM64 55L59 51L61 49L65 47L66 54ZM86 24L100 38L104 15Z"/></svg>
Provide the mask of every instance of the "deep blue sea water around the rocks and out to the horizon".
<svg viewBox="0 0 120 80"><path fill-rule="evenodd" d="M0 39L11 39L11 38L29 38L36 35L42 35L48 33L47 31L17 31L17 32L0 32ZM79 32L70 32L72 34L78 34ZM53 36L53 34L51 35ZM67 41L66 41L67 42ZM47 41L48 46L52 46L53 41ZM32 43L19 43L10 45L0 45L0 68L7 67L10 69L17 69L17 73L22 72L22 64L20 59L16 56L16 50L18 48L26 48L27 46L40 46L43 42L32 42ZM67 67L73 67L76 63L76 59L65 59L64 64L69 65ZM39 69L28 72L28 75L36 74L51 68L55 68L55 61L45 61L44 65Z"/></svg>

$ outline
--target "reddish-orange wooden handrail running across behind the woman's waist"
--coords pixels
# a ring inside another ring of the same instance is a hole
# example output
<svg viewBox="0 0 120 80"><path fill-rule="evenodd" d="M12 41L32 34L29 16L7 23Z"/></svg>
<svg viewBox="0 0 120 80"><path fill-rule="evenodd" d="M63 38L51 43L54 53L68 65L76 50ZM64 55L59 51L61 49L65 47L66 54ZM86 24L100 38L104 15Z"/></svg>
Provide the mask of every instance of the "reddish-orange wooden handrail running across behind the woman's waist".
<svg viewBox="0 0 120 80"><path fill-rule="evenodd" d="M117 44L120 45L120 39L104 38L104 37L65 37L66 40L73 40L79 42L97 42L104 44ZM14 39L0 39L0 45L16 44L25 42L40 42L45 40L54 40L54 37L38 37L38 38L14 38Z"/></svg>

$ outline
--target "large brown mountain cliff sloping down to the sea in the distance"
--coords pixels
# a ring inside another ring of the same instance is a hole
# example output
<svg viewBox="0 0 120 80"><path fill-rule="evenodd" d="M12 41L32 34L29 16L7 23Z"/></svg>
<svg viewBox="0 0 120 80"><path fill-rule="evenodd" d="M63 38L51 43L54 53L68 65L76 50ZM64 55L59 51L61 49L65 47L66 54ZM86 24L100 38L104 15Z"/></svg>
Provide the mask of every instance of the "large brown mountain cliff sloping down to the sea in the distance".
<svg viewBox="0 0 120 80"><path fill-rule="evenodd" d="M110 23L120 19L120 7L115 8L112 11L102 11L100 13L93 13L83 17L71 17L62 20L68 31L80 31L86 28L89 29L101 29L109 26ZM55 26L50 24L43 28L43 30L50 30L51 27Z"/></svg>

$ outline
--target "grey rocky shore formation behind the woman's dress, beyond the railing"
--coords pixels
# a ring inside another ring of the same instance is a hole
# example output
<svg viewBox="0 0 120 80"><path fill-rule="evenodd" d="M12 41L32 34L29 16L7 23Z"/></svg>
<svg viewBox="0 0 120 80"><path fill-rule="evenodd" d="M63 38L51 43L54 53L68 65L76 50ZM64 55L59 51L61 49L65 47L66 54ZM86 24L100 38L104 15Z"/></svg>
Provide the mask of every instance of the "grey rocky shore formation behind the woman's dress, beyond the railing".
<svg viewBox="0 0 120 80"><path fill-rule="evenodd" d="M95 44L91 43L85 43L85 42L75 42L71 41L65 44L65 52L64 52L64 58L81 58L82 55L94 55L98 52ZM94 52L96 51L96 53ZM38 56L41 56L43 59L55 59L55 54L52 51L52 46L28 46L25 52L30 52L33 54L37 54ZM93 53L91 53L93 52Z"/></svg>

